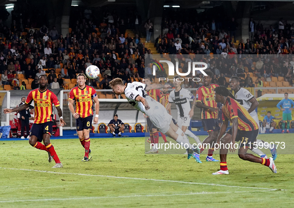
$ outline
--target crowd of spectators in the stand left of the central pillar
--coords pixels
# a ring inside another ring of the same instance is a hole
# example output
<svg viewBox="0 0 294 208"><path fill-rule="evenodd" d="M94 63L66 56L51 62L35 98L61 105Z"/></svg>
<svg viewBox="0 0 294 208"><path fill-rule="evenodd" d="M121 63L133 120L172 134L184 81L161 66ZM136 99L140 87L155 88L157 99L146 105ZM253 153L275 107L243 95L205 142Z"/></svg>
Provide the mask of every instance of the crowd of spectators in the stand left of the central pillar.
<svg viewBox="0 0 294 208"><path fill-rule="evenodd" d="M110 89L108 82L117 77L125 83L142 79L147 49L138 34L125 35L130 18L125 24L124 19L107 12L95 24L86 16L77 20L65 36L55 26L34 28L30 19L13 20L10 27L0 19L1 84L14 90L26 89L17 76L23 74L24 79L34 80L31 88L35 89L37 76L45 74L49 88L69 89L64 79L75 79L91 64L98 66L103 78L87 82L95 88ZM131 27L139 30L141 17L135 13L133 20Z"/></svg>

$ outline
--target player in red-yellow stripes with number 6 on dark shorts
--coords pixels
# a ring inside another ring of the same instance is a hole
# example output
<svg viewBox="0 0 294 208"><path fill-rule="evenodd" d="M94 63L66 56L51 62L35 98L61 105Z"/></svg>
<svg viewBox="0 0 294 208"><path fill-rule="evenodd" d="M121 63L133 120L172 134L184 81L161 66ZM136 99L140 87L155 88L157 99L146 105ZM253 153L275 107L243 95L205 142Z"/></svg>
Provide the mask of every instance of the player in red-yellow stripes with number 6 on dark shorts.
<svg viewBox="0 0 294 208"><path fill-rule="evenodd" d="M78 74L77 82L78 86L73 88L70 92L68 105L71 113L76 118L79 139L85 148L85 156L82 161L88 162L92 158L90 150L90 130L92 130L93 120L92 99L94 100L96 111L94 117L95 124L98 123L99 101L96 90L86 85L85 74ZM74 109L74 103L76 104L76 110Z"/></svg>

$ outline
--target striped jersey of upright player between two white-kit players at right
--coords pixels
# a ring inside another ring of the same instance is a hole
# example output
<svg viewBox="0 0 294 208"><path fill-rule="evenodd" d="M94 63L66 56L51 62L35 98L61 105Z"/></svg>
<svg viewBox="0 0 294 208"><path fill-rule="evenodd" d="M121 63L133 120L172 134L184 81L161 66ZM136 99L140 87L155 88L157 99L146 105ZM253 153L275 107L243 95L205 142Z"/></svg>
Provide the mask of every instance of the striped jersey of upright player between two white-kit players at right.
<svg viewBox="0 0 294 208"><path fill-rule="evenodd" d="M210 88L205 87L202 85L197 89L196 94L196 102L202 102L203 104L209 106L209 107L215 107L216 108L216 102L214 99L214 89L216 87L219 87L215 84L210 84ZM202 109L201 112L201 119L209 119L209 118L218 118L218 112L211 111L209 109Z"/></svg>

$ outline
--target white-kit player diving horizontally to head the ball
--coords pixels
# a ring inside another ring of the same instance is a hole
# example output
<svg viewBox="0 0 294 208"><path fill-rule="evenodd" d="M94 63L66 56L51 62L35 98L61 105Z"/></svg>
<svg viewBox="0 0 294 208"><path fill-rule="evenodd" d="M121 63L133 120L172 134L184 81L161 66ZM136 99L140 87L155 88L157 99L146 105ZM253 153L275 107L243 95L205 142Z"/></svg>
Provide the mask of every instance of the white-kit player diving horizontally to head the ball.
<svg viewBox="0 0 294 208"><path fill-rule="evenodd" d="M174 124L172 116L167 112L166 108L145 93L145 90L170 88L170 85L145 85L140 82L132 82L124 86L120 78L115 78L109 82L109 86L116 95L125 94L129 104L145 113L159 131L167 134L183 147L188 147L188 159L192 157L193 152L199 154L200 150L193 148L186 134Z"/></svg>

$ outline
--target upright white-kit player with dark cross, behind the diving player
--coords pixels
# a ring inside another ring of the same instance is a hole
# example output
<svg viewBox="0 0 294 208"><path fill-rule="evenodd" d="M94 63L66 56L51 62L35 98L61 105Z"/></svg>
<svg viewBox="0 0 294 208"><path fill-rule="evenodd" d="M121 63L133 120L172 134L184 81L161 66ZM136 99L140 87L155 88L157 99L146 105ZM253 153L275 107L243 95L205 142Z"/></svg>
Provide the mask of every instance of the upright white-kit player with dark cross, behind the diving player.
<svg viewBox="0 0 294 208"><path fill-rule="evenodd" d="M192 133L188 126L190 125L191 118L194 115L194 108L196 106L195 96L187 89L181 87L181 82L177 81L182 78L177 75L174 77L175 90L170 93L169 104L167 110L171 108L171 103L176 104L178 110L178 125L182 131L196 141L197 144L201 144L199 137ZM193 100L192 108L189 100Z"/></svg>

